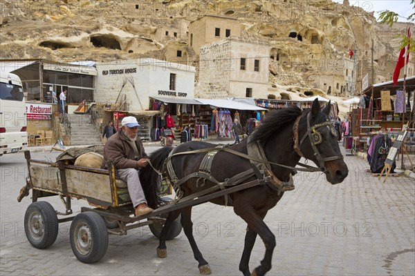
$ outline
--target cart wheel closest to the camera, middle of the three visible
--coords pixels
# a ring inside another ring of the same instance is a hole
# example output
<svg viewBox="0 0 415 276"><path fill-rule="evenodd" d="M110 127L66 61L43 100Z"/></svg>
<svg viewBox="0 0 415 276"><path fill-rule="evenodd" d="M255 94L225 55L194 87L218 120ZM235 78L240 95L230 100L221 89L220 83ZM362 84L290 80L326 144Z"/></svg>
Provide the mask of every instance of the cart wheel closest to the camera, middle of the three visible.
<svg viewBox="0 0 415 276"><path fill-rule="evenodd" d="M98 262L108 248L104 219L98 213L85 212L75 216L70 230L71 247L77 259L85 264Z"/></svg>

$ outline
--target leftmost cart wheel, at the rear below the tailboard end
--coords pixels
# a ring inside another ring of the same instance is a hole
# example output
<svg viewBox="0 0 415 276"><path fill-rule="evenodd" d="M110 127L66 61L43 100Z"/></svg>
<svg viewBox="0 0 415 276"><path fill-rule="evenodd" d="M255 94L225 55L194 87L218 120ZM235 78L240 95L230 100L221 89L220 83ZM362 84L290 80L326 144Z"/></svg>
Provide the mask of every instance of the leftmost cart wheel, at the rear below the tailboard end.
<svg viewBox="0 0 415 276"><path fill-rule="evenodd" d="M55 209L46 201L30 204L24 215L24 232L33 247L44 249L57 237L59 221Z"/></svg>

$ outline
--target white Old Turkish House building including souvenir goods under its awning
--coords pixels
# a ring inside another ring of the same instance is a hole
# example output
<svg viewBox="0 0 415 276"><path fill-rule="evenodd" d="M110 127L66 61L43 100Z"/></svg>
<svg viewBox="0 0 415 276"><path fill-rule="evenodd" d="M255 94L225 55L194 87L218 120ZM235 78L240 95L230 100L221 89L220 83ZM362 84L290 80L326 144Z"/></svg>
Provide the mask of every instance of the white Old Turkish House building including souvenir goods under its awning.
<svg viewBox="0 0 415 276"><path fill-rule="evenodd" d="M113 120L119 129L123 117L135 116L144 140L157 140L156 130L167 127L167 119L169 128L176 127L180 105L198 103L193 66L145 58L97 63L96 68L94 98L108 106L104 124Z"/></svg>

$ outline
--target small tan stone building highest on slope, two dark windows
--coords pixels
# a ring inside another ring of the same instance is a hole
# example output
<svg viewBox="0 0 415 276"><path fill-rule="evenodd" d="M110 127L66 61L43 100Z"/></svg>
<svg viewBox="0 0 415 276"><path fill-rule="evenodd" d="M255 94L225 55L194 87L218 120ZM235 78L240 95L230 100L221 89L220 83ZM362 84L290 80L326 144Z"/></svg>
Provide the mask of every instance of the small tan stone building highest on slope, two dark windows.
<svg viewBox="0 0 415 276"><path fill-rule="evenodd" d="M188 44L199 55L202 45L231 36L241 37L241 24L237 19L205 15L190 23Z"/></svg>

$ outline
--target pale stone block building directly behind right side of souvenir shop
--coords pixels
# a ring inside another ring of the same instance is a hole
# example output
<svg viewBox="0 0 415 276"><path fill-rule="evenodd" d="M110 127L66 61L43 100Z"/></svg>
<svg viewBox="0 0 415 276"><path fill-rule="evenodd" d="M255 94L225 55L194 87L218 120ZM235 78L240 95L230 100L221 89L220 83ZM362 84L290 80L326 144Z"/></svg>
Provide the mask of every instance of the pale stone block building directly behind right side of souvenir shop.
<svg viewBox="0 0 415 276"><path fill-rule="evenodd" d="M198 97L268 97L270 46L267 42L228 37L201 47Z"/></svg>

